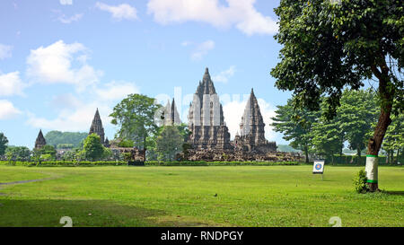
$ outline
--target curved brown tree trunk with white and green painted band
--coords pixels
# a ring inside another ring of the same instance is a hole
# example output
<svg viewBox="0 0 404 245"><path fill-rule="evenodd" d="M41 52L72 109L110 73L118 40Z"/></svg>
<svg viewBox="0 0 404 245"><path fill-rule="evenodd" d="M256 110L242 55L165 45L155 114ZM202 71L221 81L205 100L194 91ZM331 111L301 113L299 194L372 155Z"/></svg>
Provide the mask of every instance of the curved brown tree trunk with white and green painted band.
<svg viewBox="0 0 404 245"><path fill-rule="evenodd" d="M391 109L394 98L394 87L390 82L389 68L387 67L384 56L378 60L379 67L372 66L373 74L379 79L379 95L381 98L381 113L379 121L374 128L373 137L369 139L367 144L366 156L366 177L367 186L370 191L379 190L378 184L378 159L380 148L382 147L383 138L386 134L387 127L391 124Z"/></svg>

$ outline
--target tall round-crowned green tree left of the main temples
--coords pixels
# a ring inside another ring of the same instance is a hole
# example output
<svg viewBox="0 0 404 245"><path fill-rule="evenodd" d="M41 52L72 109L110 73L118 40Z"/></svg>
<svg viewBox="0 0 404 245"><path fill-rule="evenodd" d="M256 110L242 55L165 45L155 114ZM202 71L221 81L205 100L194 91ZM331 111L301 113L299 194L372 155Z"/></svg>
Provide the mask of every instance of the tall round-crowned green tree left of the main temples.
<svg viewBox="0 0 404 245"><path fill-rule="evenodd" d="M142 94L129 94L110 114L111 123L119 126L118 137L132 140L139 148L147 148L147 137L157 132L154 114L161 105Z"/></svg>

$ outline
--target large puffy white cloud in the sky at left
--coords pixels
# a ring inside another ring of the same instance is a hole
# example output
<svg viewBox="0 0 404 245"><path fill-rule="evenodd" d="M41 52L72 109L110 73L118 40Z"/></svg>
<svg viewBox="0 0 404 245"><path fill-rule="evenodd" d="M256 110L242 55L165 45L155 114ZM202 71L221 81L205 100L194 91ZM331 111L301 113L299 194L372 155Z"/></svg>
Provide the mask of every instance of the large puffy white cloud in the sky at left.
<svg viewBox="0 0 404 245"><path fill-rule="evenodd" d="M75 63L75 55L84 51L86 48L83 44L66 44L63 40L31 50L27 58L27 75L39 83L75 84L76 90L83 92L87 86L98 83L102 75L100 70L89 66L85 59L80 59L82 64Z"/></svg>

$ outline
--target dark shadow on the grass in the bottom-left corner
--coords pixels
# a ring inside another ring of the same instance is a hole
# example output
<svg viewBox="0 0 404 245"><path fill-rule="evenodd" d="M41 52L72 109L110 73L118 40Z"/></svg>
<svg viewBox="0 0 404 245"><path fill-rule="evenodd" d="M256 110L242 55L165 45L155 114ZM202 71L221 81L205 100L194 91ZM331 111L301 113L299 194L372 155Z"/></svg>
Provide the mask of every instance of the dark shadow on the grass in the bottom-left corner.
<svg viewBox="0 0 404 245"><path fill-rule="evenodd" d="M62 227L69 216L73 226L208 226L192 217L162 210L122 206L106 200L10 199L0 196L1 227Z"/></svg>

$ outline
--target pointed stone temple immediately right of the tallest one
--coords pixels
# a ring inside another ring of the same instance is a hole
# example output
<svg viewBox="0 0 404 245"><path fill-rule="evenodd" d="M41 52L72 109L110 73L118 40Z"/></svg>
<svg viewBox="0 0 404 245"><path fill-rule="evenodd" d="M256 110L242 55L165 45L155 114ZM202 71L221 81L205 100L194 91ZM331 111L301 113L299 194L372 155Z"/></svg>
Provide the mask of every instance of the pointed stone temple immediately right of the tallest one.
<svg viewBox="0 0 404 245"><path fill-rule="evenodd" d="M240 135L234 137L233 144L236 150L244 152L268 153L277 151L277 144L265 139L265 123L252 89L242 116Z"/></svg>

